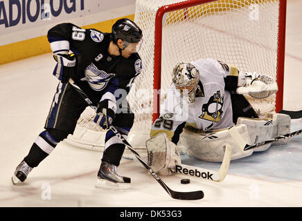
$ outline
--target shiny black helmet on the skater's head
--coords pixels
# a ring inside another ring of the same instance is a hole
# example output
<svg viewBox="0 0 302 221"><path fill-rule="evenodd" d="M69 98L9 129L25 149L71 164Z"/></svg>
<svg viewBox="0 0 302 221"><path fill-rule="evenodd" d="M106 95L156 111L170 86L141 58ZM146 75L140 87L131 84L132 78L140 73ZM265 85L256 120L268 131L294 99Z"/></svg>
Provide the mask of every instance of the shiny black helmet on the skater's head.
<svg viewBox="0 0 302 221"><path fill-rule="evenodd" d="M127 41L128 43L137 43L141 41L143 32L141 28L130 19L119 19L112 26L112 40L116 44L118 39Z"/></svg>

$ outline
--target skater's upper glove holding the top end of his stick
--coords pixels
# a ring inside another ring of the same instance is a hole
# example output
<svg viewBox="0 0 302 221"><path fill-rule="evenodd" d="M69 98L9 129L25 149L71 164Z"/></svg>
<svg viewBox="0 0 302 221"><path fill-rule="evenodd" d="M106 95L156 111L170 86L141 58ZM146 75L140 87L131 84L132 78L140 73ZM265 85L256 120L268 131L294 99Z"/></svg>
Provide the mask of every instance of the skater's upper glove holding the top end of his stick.
<svg viewBox="0 0 302 221"><path fill-rule="evenodd" d="M53 70L53 75L62 83L67 83L69 77L71 77L72 73L75 71L75 55L73 53L70 55L57 54L53 55L53 58L57 61L55 70Z"/></svg>

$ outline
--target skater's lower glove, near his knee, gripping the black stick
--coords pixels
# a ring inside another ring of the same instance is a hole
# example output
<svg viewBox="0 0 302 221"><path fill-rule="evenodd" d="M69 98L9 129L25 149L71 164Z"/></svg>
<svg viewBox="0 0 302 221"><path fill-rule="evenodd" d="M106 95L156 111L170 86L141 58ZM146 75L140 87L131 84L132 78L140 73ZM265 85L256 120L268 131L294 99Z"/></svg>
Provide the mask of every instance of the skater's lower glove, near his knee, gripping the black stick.
<svg viewBox="0 0 302 221"><path fill-rule="evenodd" d="M109 129L109 126L112 126L112 123L114 122L116 104L110 99L105 99L98 103L97 108L94 122L100 125L104 130Z"/></svg>

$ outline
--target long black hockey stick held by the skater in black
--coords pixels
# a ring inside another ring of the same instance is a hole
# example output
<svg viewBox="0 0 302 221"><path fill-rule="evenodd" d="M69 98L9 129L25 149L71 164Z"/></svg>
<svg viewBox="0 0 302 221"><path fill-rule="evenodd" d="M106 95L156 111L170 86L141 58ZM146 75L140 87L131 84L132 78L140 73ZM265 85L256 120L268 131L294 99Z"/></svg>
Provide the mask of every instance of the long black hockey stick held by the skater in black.
<svg viewBox="0 0 302 221"><path fill-rule="evenodd" d="M87 102L87 104L89 104L89 106L91 106L91 108L94 109L94 111L96 111L96 106L93 105L93 103L91 102L91 100L89 99L89 97L87 97L87 95L82 91L82 89L75 84L75 82L73 81L73 79L69 79L69 84L71 84L71 86L73 86L73 88L75 88L75 90L78 91L78 93L80 93L80 95L85 99L85 101ZM121 135L121 133L119 133L116 128L114 126L110 126L109 127L110 130L112 130L112 132L118 136L120 138L120 140L127 146L127 148L130 149L130 151L132 151L132 153L134 153L135 157L137 158L137 160L139 160L139 162L141 162L141 164L143 164L143 166L145 166L145 169L147 169L147 171L152 175L152 177L154 177L155 180L157 180L157 182L159 182L159 184L161 184L161 186L163 187L163 189L174 199L178 199L178 200L200 200L202 198L204 198L204 192L203 191L192 191L192 192L178 192L178 191L172 191L172 189L170 189L164 182L163 180L161 180L161 178L159 176L157 176L156 173L154 173L154 171L150 168L150 166L148 166L148 164L141 159L139 153L137 153L134 148L132 148L132 146L127 142L127 140L125 140L125 138Z"/></svg>

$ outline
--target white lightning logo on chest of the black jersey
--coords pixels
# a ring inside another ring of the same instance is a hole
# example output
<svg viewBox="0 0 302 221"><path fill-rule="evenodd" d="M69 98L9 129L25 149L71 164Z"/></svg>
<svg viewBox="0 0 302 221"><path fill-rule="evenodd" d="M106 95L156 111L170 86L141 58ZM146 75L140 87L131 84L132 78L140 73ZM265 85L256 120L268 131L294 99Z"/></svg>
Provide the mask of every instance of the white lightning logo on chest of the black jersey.
<svg viewBox="0 0 302 221"><path fill-rule="evenodd" d="M87 81L92 89L100 91L107 86L108 81L114 76L115 74L107 74L104 70L98 70L98 68L91 63L85 69L85 77L83 77L81 81Z"/></svg>

